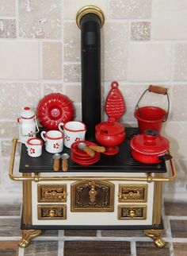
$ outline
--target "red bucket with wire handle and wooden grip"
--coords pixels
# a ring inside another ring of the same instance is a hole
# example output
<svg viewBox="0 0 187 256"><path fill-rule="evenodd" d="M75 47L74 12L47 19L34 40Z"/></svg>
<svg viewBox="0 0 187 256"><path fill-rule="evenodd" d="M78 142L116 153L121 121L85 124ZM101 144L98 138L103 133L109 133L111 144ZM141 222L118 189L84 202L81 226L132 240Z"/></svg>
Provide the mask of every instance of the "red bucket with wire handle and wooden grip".
<svg viewBox="0 0 187 256"><path fill-rule="evenodd" d="M143 98L143 95L147 92L155 92L160 95L166 95L167 96L167 112L163 110L161 107L139 107L139 102ZM166 119L168 118L168 113L170 110L170 99L167 94L167 88L165 87L159 87L156 85L150 85L146 91L143 92L143 95L141 95L138 103L135 106L135 118L138 120L139 124L139 133L143 134L144 130L152 129L156 130L158 134L160 133L160 130L162 128L162 122L166 122Z"/></svg>

